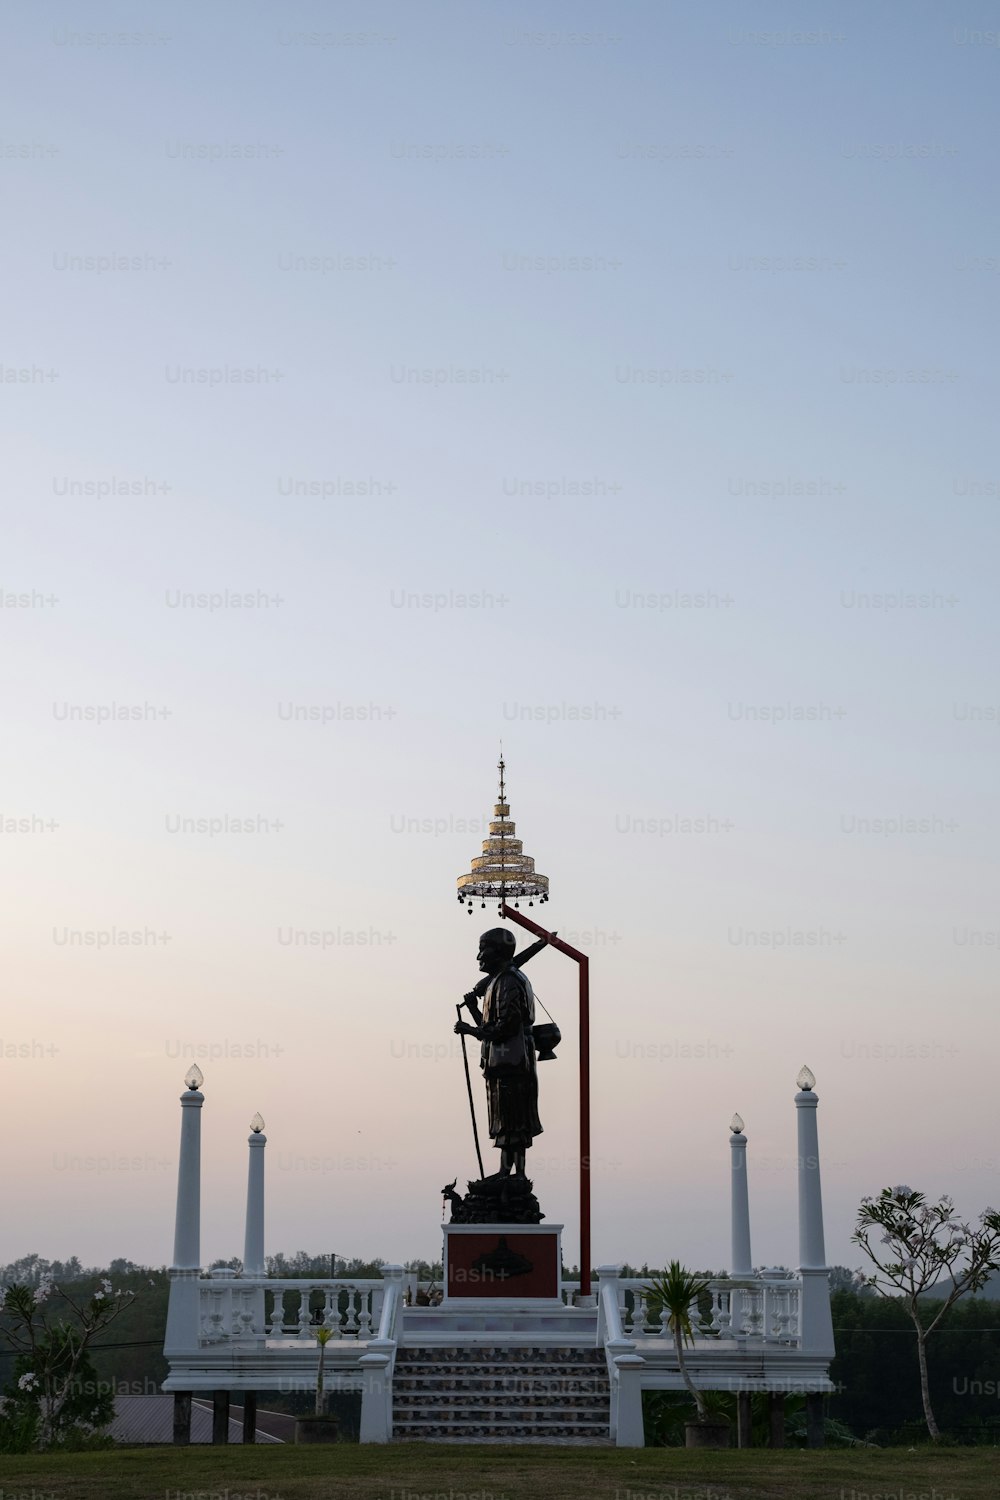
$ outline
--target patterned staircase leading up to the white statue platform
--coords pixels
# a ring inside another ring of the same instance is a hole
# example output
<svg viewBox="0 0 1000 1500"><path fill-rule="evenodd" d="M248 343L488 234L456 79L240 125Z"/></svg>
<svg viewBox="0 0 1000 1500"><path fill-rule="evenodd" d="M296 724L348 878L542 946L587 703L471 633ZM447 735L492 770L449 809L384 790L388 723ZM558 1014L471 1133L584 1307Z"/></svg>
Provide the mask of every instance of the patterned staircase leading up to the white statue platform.
<svg viewBox="0 0 1000 1500"><path fill-rule="evenodd" d="M601 1348L403 1347L393 1376L393 1437L414 1443L610 1446Z"/></svg>

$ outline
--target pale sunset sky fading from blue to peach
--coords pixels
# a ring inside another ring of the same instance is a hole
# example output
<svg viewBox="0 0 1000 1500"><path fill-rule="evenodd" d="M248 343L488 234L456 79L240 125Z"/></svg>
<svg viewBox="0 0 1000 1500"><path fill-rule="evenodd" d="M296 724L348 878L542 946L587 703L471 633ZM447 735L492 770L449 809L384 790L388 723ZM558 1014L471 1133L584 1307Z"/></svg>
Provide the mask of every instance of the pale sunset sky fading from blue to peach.
<svg viewBox="0 0 1000 1500"><path fill-rule="evenodd" d="M739 1110L795 1264L804 1062L832 1263L997 1202L990 27L7 4L0 1260L169 1260L192 1054L205 1262L255 1110L268 1251L439 1254L501 738L595 1263L729 1263Z"/></svg>

